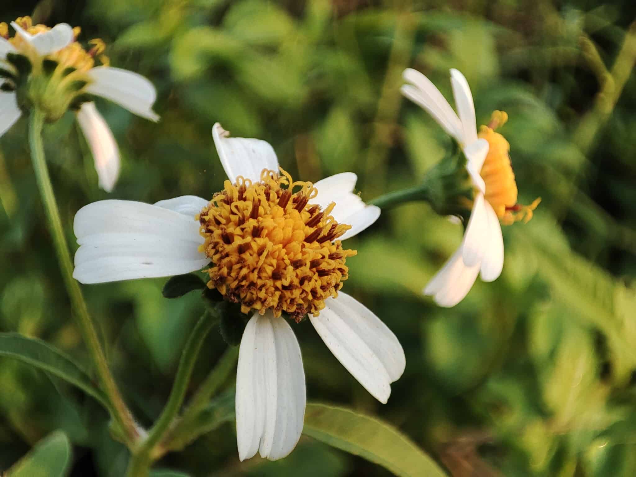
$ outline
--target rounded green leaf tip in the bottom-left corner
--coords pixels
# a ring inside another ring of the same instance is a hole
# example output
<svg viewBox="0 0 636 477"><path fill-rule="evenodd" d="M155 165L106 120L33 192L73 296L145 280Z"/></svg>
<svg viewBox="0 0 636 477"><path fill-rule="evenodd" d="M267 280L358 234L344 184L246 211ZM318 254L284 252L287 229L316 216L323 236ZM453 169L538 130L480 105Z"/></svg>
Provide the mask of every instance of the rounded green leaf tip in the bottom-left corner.
<svg viewBox="0 0 636 477"><path fill-rule="evenodd" d="M62 431L39 441L31 452L9 469L7 477L62 477L71 464L71 443Z"/></svg>

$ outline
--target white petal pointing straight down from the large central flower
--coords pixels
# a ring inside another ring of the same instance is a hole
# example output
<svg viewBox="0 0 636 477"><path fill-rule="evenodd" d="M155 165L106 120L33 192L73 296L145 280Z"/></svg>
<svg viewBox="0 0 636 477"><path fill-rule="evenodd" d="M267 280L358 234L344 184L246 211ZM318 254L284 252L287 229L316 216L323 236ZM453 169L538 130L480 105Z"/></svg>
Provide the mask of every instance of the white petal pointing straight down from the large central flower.
<svg viewBox="0 0 636 477"><path fill-rule="evenodd" d="M237 369L239 459L258 450L281 459L300 439L305 416L305 373L289 324L272 312L254 314L243 332Z"/></svg>

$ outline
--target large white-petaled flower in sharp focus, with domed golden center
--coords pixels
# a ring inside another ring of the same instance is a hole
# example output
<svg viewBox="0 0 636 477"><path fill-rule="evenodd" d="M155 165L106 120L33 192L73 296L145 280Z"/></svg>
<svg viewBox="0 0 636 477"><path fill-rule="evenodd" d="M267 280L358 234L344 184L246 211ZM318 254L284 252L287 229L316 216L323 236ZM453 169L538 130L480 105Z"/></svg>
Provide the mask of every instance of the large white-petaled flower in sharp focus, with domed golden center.
<svg viewBox="0 0 636 477"><path fill-rule="evenodd" d="M224 190L209 202L86 205L75 216L73 276L99 283L209 266L208 286L252 313L237 370L239 457L258 451L280 459L300 438L306 401L300 347L282 312L296 321L308 314L329 350L382 403L404 371L396 336L340 291L345 261L356 254L342 239L374 223L380 209L354 193L356 174L293 182L267 142L228 137L218 123L212 134L228 176Z"/></svg>

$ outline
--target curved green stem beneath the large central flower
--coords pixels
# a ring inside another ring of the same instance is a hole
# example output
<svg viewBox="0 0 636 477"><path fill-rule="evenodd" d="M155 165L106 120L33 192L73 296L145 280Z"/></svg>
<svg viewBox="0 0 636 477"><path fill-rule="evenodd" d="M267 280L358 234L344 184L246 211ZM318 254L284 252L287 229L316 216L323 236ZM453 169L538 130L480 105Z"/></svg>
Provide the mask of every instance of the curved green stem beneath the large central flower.
<svg viewBox="0 0 636 477"><path fill-rule="evenodd" d="M128 477L148 476L149 467L153 461L153 450L161 441L165 432L169 430L177 413L179 413L186 391L188 391L188 382L190 382L198 352L205 340L205 336L207 336L212 326L218 322L218 319L214 318L216 317L211 317L209 312L205 312L191 331L188 342L186 342L181 354L181 360L179 360L177 376L174 378L174 385L172 386L172 391L170 391L168 402L165 404L155 425L148 432L148 437L134 451L130 464L128 464Z"/></svg>

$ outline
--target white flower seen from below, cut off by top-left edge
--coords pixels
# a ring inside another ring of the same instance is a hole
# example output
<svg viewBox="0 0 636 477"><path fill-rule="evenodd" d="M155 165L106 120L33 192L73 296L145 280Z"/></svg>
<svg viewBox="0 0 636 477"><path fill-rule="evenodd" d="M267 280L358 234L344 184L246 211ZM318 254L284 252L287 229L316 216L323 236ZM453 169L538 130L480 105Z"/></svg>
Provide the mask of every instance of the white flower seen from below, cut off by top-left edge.
<svg viewBox="0 0 636 477"><path fill-rule="evenodd" d="M58 24L53 28L32 25L31 18L11 22L16 31L8 37L0 24L0 136L36 102L48 120L57 120L67 109L77 111L79 126L90 146L99 186L113 190L120 172L120 154L113 134L99 114L92 96L100 96L151 121L155 87L143 76L108 65L104 43L92 40L88 51L76 41L79 28ZM95 66L95 58L102 66ZM24 90L24 92L23 92Z"/></svg>

